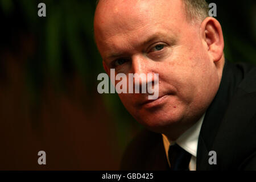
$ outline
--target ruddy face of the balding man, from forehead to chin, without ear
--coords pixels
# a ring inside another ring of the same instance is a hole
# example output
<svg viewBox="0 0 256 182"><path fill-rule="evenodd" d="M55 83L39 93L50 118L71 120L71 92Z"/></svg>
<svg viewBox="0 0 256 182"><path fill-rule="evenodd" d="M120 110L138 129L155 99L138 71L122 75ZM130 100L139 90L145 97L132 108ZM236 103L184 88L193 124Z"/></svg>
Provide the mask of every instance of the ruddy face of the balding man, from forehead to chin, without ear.
<svg viewBox="0 0 256 182"><path fill-rule="evenodd" d="M200 23L189 23L183 2L101 1L94 19L96 43L107 73L158 73L159 98L119 94L126 109L148 129L166 133L191 126L217 92L216 65ZM145 103L146 102L146 103Z"/></svg>

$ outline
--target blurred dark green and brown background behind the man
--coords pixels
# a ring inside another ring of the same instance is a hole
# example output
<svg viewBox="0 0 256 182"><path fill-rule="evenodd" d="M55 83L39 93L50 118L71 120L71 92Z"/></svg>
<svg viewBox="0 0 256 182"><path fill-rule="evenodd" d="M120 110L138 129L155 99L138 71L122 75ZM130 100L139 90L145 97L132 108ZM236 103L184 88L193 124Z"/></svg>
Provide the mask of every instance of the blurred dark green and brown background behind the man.
<svg viewBox="0 0 256 182"><path fill-rule="evenodd" d="M255 0L208 2L217 4L225 57L256 64ZM0 0L0 170L118 169L141 130L117 94L97 92L94 9L95 1Z"/></svg>

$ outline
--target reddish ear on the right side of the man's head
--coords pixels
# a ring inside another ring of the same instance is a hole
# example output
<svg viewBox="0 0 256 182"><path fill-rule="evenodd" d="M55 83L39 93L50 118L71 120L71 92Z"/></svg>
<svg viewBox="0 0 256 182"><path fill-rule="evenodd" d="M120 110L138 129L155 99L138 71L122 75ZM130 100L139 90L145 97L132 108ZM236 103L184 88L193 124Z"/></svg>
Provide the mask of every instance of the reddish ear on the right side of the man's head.
<svg viewBox="0 0 256 182"><path fill-rule="evenodd" d="M219 61L223 55L224 39L221 25L217 19L207 17L201 23L201 37L208 51L209 57L214 62Z"/></svg>

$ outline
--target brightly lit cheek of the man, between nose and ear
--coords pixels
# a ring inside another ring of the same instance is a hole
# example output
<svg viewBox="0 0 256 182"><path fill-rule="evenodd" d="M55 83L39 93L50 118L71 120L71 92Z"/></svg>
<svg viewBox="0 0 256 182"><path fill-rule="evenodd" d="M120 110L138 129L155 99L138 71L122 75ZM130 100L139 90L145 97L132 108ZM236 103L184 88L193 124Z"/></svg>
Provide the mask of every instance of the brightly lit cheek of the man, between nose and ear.
<svg viewBox="0 0 256 182"><path fill-rule="evenodd" d="M159 74L159 89L171 85L175 88L180 103L191 104L199 94L200 87L204 84L204 74L207 72L202 59L183 53L176 55L171 61L166 61L161 67L163 69L160 72L162 74Z"/></svg>

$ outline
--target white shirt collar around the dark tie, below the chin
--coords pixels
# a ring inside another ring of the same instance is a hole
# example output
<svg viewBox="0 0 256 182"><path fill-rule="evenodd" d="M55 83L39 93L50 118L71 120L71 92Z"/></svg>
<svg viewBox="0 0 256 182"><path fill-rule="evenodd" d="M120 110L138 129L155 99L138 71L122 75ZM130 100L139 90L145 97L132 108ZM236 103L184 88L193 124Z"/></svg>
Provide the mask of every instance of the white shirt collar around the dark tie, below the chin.
<svg viewBox="0 0 256 182"><path fill-rule="evenodd" d="M197 152L197 143L198 138L201 130L201 126L204 120L205 114L193 125L191 128L189 128L185 133L180 135L180 137L176 140L176 143L179 144L181 148L183 148L185 151L189 152L189 154L196 157ZM168 150L170 145L174 144L175 142L169 141L166 135L163 135L163 143L164 143L164 149L166 151L166 156L168 159Z"/></svg>

